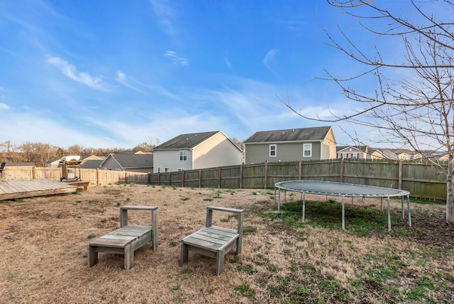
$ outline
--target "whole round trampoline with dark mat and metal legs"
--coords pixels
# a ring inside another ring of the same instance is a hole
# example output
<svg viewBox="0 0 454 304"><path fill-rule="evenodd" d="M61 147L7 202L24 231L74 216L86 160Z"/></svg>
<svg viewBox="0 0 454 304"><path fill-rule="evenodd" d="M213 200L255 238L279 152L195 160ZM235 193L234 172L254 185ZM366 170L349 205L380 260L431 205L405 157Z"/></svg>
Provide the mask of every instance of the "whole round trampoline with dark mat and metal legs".
<svg viewBox="0 0 454 304"><path fill-rule="evenodd" d="M404 197L406 197L406 206L408 210L409 227L411 227L411 211L410 211L410 192L393 188L382 188L375 186L325 182L320 180L289 180L275 183L279 189L279 198L277 200L277 212L280 212L281 190L301 192L303 207L302 219L304 222L306 212L306 193L316 195L331 195L342 197L342 229L345 229L345 197L387 197L388 203L388 231L391 230L391 207L389 197L401 197L402 201L402 218L405 218L404 212Z"/></svg>

